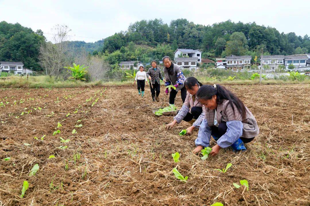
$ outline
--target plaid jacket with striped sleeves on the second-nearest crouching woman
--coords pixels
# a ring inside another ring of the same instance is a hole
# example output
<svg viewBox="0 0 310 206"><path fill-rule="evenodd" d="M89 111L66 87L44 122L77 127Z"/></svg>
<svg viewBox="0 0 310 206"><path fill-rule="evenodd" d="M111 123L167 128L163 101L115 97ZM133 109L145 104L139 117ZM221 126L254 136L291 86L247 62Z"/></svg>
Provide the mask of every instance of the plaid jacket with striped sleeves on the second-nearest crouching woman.
<svg viewBox="0 0 310 206"><path fill-rule="evenodd" d="M199 88L199 87L198 87ZM179 124L184 117L187 115L188 112L190 111L190 108L192 107L202 107L202 111L205 111L203 106L199 101L198 98L194 96L195 101L193 100L193 95L189 94L187 92L186 94L186 99L183 103L183 106L181 107L179 113L173 118L176 120L176 122ZM198 119L193 123L193 126L195 128L199 128L201 121L205 118L205 112L202 112L201 115L198 117Z"/></svg>

